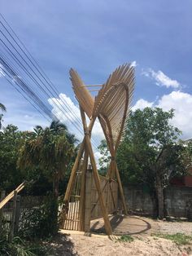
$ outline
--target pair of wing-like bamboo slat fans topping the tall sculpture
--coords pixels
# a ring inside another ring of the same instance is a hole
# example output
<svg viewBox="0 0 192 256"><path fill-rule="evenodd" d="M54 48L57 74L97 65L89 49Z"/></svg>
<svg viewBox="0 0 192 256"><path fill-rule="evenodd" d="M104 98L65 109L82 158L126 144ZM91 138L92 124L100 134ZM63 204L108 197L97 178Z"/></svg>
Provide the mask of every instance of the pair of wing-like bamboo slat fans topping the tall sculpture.
<svg viewBox="0 0 192 256"><path fill-rule="evenodd" d="M130 64L116 68L98 91L95 100L76 71L71 69L70 74L73 90L81 107L89 118L99 118L107 142L111 144L111 148L117 148L133 96L134 68Z"/></svg>

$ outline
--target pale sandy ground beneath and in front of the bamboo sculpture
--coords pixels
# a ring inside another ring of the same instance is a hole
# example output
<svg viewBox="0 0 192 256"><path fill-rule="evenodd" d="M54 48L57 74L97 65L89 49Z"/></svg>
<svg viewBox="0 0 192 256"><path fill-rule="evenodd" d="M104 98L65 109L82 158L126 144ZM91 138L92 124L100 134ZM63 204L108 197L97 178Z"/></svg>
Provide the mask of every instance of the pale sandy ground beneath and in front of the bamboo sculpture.
<svg viewBox="0 0 192 256"><path fill-rule="evenodd" d="M112 219L112 217L111 217ZM118 223L116 225L116 223ZM192 235L192 223L187 222L165 222L155 221L151 218L141 218L129 216L123 219L116 219L113 223L113 232L110 240L102 235L103 220L98 219L92 223L94 233L85 236L82 232L61 231L57 244L55 244L56 254L58 256L124 256L124 255L151 255L151 256L186 256L192 255L192 245L178 246L174 242L151 236L151 234L161 232L174 234L177 232ZM95 231L100 235L95 234ZM133 236L132 242L117 241L116 234L130 234ZM89 236L90 235L90 236Z"/></svg>

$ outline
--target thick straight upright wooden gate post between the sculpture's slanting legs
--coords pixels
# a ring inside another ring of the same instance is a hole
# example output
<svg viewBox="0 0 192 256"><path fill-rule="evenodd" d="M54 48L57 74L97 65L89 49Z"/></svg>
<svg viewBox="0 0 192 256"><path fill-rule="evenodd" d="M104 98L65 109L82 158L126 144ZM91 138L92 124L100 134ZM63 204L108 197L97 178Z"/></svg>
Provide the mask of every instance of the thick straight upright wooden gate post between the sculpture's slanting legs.
<svg viewBox="0 0 192 256"><path fill-rule="evenodd" d="M85 232L90 231L91 188L92 188L92 170L88 169L86 172L86 188L85 188Z"/></svg>

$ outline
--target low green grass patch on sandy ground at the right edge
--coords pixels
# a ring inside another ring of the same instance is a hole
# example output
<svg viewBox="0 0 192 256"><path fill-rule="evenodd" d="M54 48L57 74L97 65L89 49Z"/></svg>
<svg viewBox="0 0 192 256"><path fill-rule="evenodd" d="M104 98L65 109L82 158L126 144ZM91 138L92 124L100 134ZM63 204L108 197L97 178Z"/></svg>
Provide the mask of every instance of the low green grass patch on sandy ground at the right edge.
<svg viewBox="0 0 192 256"><path fill-rule="evenodd" d="M157 236L157 237L171 240L175 242L177 245L190 245L192 243L192 236L186 236L183 233L176 233L174 235L158 233L158 234L153 234L151 236Z"/></svg>

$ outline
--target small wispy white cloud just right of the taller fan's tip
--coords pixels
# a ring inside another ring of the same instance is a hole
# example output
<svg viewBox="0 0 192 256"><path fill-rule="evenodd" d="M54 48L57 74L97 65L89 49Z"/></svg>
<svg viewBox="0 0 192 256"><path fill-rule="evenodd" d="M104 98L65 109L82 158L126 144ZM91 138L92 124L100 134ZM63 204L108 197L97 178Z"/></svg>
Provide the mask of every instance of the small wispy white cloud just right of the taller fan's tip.
<svg viewBox="0 0 192 256"><path fill-rule="evenodd" d="M166 86L167 88L181 87L180 82L177 82L177 80L173 80L170 77L166 76L161 70L155 72L152 68L148 68L147 70L142 70L142 75L154 79L156 85L158 86Z"/></svg>

